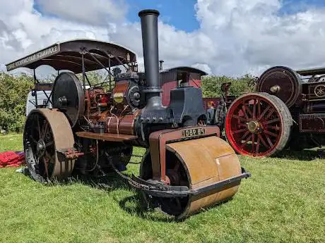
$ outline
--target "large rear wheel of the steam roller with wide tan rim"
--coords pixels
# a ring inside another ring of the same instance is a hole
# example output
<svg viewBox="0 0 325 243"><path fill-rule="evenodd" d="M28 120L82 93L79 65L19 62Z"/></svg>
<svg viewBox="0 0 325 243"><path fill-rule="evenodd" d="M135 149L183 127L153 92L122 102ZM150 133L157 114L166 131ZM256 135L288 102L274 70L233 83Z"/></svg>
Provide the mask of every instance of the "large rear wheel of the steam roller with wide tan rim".
<svg viewBox="0 0 325 243"><path fill-rule="evenodd" d="M64 179L71 175L74 160L59 153L73 148L71 126L57 109L34 109L28 115L23 135L25 161L34 180Z"/></svg>

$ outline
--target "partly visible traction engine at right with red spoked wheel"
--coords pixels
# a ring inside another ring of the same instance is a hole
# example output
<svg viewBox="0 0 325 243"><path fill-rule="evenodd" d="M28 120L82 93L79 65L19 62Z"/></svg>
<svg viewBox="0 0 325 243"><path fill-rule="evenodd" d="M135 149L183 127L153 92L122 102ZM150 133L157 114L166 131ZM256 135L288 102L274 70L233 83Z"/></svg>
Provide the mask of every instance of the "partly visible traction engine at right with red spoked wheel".
<svg viewBox="0 0 325 243"><path fill-rule="evenodd" d="M238 97L226 118L232 147L248 156L272 156L285 148L324 145L325 68L275 66L256 82L256 93Z"/></svg>

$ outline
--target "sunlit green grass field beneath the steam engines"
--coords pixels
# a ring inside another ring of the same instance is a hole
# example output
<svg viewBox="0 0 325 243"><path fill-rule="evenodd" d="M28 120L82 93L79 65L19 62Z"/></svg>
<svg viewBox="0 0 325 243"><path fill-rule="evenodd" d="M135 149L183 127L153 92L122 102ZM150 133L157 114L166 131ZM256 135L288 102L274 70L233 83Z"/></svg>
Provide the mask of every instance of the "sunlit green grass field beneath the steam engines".
<svg viewBox="0 0 325 243"><path fill-rule="evenodd" d="M7 149L22 149L22 136L1 136L0 151ZM114 175L106 187L45 186L2 168L0 242L325 242L325 160L315 151L281 156L241 156L252 177L235 197L180 223L141 208Z"/></svg>

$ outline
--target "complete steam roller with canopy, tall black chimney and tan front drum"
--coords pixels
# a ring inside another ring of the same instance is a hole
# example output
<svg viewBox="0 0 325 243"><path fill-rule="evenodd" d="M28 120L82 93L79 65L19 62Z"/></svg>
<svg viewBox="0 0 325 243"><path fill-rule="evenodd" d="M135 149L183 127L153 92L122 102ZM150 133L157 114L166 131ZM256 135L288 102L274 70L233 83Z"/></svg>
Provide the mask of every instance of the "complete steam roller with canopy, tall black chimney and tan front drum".
<svg viewBox="0 0 325 243"><path fill-rule="evenodd" d="M184 218L229 199L249 177L235 151L218 137L218 127L198 125L206 120L201 89L185 82L170 91L169 104L162 106L158 15L139 13L145 73L137 73L136 56L128 49L84 39L54 44L7 65L8 70L35 71L41 65L58 70L48 97L53 108L37 105L25 123L25 157L35 180L64 179L73 170L92 175L114 169L162 211ZM111 81L114 66L126 70L114 69L114 89L105 92L102 85L90 84L85 70L104 68ZM83 82L74 73L82 73ZM121 171L134 146L147 151L140 176L126 177Z"/></svg>

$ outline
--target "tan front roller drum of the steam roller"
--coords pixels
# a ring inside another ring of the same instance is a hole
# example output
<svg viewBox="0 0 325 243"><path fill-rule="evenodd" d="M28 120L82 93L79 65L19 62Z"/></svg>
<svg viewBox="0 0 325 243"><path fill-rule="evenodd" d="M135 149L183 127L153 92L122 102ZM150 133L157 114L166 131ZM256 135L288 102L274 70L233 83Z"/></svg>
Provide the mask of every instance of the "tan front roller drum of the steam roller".
<svg viewBox="0 0 325 243"><path fill-rule="evenodd" d="M211 136L174 142L166 144L166 150L166 180L169 185L188 187L191 192L203 189L203 192L187 197L152 197L165 213L179 220L236 194L240 180L230 182L222 189L204 192L209 185L242 174L235 151L223 139ZM152 177L150 163L150 154L147 154L141 166L144 180Z"/></svg>

